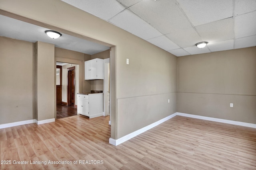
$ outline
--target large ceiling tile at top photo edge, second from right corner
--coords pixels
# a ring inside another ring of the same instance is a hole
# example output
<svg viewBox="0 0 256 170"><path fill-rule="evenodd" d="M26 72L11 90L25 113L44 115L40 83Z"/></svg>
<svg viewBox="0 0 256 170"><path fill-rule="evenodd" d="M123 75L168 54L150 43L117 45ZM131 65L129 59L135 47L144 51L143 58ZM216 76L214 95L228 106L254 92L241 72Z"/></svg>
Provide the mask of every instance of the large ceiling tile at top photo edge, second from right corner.
<svg viewBox="0 0 256 170"><path fill-rule="evenodd" d="M233 16L233 0L177 0L191 23L205 23Z"/></svg>

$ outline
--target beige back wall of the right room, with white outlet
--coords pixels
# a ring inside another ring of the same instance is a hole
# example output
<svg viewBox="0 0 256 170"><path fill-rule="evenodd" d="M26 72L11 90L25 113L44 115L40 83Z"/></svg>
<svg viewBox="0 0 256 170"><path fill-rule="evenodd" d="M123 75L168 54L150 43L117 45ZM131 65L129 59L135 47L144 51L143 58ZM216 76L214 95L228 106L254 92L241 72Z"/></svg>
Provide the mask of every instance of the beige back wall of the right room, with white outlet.
<svg viewBox="0 0 256 170"><path fill-rule="evenodd" d="M256 123L256 47L178 57L177 103L178 112Z"/></svg>

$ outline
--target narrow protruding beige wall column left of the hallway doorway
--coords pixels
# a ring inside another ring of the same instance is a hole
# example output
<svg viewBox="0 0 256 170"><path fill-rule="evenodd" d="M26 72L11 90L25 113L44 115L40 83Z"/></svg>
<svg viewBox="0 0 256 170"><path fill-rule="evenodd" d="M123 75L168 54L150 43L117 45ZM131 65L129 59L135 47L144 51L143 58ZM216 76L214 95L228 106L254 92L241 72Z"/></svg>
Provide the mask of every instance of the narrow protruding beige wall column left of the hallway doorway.
<svg viewBox="0 0 256 170"><path fill-rule="evenodd" d="M55 72L54 44L36 42L36 115L38 121L54 118Z"/></svg>

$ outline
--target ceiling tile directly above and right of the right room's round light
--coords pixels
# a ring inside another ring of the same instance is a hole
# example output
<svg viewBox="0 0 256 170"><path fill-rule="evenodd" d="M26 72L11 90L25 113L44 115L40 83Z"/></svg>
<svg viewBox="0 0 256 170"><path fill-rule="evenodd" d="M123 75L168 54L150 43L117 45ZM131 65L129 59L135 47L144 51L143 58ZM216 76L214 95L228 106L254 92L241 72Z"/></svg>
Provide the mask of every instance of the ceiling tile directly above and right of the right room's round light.
<svg viewBox="0 0 256 170"><path fill-rule="evenodd" d="M233 18L199 25L196 30L202 39L209 43L234 39Z"/></svg>

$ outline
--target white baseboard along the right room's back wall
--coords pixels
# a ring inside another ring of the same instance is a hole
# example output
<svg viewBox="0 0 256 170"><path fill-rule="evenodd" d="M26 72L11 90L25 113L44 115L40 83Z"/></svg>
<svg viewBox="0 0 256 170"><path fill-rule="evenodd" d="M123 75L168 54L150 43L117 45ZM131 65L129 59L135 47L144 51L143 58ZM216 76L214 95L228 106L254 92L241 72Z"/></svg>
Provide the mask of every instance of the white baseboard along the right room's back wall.
<svg viewBox="0 0 256 170"><path fill-rule="evenodd" d="M245 122L241 122L241 121L232 121L232 120L219 119L219 118L213 118L213 117L191 115L191 114L180 113L180 112L176 112L176 113L177 113L177 115L184 116L184 117L191 117L191 118L196 118L196 119L216 121L216 122L220 122L220 123L228 123L228 124L232 124L232 125L239 125L239 126L256 128L256 124L253 124L253 123L245 123Z"/></svg>

